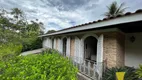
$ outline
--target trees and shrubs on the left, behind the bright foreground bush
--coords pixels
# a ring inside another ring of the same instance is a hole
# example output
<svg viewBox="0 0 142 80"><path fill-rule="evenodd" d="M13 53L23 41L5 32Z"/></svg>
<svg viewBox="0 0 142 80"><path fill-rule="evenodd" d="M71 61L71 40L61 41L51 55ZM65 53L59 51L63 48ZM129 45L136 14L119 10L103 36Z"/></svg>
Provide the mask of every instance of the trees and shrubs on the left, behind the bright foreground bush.
<svg viewBox="0 0 142 80"><path fill-rule="evenodd" d="M27 21L24 12L18 8L11 11L0 9L1 59L8 54L17 55L21 51L41 48L42 40L38 36L43 33L42 29L41 22Z"/></svg>

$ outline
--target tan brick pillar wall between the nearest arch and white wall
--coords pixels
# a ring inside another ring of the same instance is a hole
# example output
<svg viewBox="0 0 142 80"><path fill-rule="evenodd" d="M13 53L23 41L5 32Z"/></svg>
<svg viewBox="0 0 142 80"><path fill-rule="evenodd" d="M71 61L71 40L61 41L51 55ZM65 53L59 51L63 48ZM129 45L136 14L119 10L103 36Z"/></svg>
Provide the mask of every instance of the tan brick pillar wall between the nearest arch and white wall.
<svg viewBox="0 0 142 80"><path fill-rule="evenodd" d="M108 68L124 66L125 35L120 32L104 33L104 60Z"/></svg>

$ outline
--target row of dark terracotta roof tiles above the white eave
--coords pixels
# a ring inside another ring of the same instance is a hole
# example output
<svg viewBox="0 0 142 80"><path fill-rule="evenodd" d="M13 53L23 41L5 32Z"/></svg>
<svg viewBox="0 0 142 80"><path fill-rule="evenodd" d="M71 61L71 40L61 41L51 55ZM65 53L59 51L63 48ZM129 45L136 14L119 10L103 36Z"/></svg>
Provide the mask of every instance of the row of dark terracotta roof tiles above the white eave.
<svg viewBox="0 0 142 80"><path fill-rule="evenodd" d="M68 30L68 29L72 29L72 28L76 28L76 27L81 27L81 26L85 26L85 25L89 25L89 24L94 24L94 23L98 23L98 22L103 22L103 21L106 21L106 20L111 20L111 19L114 19L114 18L123 17L123 16L127 16L127 15L133 15L133 14L137 14L137 13L142 13L142 9L138 9L134 13L127 12L127 13L125 13L123 15L117 15L116 17L108 17L108 18L104 18L102 20L92 21L92 22L88 22L88 23L72 26L72 27L69 27L69 28L65 28L65 29L62 29L62 30L58 30L56 32L64 31L64 30Z"/></svg>

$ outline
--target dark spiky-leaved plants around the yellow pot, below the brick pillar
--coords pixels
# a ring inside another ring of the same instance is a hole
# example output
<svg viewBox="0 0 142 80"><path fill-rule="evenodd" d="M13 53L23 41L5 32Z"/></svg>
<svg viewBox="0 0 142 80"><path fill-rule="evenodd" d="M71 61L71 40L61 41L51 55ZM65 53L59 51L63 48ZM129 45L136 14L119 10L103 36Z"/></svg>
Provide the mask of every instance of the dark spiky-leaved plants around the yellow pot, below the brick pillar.
<svg viewBox="0 0 142 80"><path fill-rule="evenodd" d="M136 70L133 67L113 67L110 69L106 69L103 75L103 80L117 80L116 72L125 72L124 80L137 80L138 77L135 71Z"/></svg>

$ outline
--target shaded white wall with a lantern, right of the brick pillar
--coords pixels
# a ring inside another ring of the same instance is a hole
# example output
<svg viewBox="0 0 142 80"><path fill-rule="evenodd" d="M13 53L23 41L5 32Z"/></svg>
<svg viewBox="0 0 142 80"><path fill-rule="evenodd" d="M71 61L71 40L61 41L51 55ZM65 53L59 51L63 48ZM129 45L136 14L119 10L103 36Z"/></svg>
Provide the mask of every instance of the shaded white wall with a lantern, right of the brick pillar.
<svg viewBox="0 0 142 80"><path fill-rule="evenodd" d="M130 42L130 37L134 36L135 41ZM142 33L126 34L125 40L125 65L137 68L142 64Z"/></svg>

